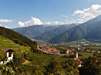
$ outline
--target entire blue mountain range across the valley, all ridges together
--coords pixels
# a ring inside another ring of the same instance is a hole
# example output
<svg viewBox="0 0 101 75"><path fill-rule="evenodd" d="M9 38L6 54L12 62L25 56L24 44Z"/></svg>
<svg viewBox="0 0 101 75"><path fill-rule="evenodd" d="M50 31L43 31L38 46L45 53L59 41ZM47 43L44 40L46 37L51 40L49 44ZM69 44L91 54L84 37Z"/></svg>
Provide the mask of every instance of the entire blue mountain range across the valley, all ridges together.
<svg viewBox="0 0 101 75"><path fill-rule="evenodd" d="M61 43L86 39L101 42L101 16L97 16L82 24L67 25L35 25L13 29L30 39Z"/></svg>

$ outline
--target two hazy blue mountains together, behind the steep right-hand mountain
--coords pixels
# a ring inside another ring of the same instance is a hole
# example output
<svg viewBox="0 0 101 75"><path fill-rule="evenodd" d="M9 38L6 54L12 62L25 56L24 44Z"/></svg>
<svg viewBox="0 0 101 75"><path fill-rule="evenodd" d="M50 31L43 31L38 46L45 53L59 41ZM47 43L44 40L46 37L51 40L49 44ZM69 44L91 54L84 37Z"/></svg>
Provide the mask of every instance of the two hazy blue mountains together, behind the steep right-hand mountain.
<svg viewBox="0 0 101 75"><path fill-rule="evenodd" d="M76 26L78 24L66 25L34 25L29 27L14 28L12 30L30 38L37 40L49 41L62 32Z"/></svg>

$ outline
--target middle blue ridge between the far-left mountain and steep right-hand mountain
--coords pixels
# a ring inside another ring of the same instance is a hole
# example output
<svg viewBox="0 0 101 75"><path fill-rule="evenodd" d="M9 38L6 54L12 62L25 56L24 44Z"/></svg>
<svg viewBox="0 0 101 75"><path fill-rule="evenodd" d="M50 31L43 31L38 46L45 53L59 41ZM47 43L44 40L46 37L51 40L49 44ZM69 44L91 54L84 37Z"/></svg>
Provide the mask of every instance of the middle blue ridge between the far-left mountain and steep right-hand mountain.
<svg viewBox="0 0 101 75"><path fill-rule="evenodd" d="M49 41L52 38L56 37L57 35L63 33L64 31L66 31L74 26L76 26L76 24L60 25L50 31L44 32L43 34L35 37L35 39Z"/></svg>

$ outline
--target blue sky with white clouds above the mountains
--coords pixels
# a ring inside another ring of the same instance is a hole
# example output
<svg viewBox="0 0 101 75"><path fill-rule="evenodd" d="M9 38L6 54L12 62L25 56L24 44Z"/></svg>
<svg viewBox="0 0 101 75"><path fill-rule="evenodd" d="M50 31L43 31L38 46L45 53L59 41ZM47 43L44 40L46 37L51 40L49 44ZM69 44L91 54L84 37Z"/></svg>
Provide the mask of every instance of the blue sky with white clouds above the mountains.
<svg viewBox="0 0 101 75"><path fill-rule="evenodd" d="M101 0L0 0L0 26L83 23L101 15Z"/></svg>

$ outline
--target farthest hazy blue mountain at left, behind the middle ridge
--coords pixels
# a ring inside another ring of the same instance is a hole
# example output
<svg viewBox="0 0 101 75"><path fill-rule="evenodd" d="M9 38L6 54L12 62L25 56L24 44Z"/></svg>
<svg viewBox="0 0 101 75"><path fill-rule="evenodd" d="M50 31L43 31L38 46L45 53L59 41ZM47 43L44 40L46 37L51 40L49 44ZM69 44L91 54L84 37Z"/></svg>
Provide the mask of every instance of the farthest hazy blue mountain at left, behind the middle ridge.
<svg viewBox="0 0 101 75"><path fill-rule="evenodd" d="M57 26L46 26L46 25L34 25L29 27L22 27L22 28L14 28L12 30L30 38L34 39L35 37L47 32L49 30L55 29Z"/></svg>

